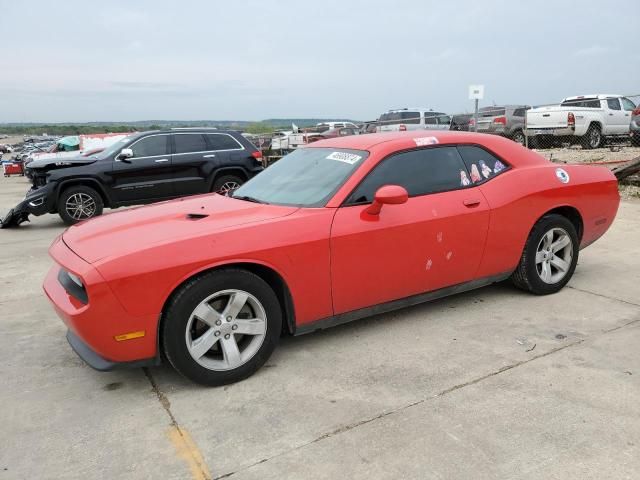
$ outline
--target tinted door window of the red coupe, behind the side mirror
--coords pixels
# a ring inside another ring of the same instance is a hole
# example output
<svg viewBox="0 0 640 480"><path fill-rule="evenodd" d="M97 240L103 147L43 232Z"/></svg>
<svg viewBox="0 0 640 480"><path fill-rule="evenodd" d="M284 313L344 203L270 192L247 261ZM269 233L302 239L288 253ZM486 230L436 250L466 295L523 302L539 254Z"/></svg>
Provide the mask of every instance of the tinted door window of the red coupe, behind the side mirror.
<svg viewBox="0 0 640 480"><path fill-rule="evenodd" d="M400 185L410 197L455 190L468 185L466 169L456 147L413 150L383 160L362 181L348 204L370 203L384 185Z"/></svg>

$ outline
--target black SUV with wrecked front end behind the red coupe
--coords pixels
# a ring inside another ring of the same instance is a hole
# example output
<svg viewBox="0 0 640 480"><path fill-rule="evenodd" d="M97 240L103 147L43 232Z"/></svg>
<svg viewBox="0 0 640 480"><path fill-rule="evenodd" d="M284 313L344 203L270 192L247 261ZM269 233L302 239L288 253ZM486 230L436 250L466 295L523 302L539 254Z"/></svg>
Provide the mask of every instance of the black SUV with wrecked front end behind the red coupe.
<svg viewBox="0 0 640 480"><path fill-rule="evenodd" d="M34 160L28 167L33 187L11 213L18 224L29 214L58 213L72 225L100 215L103 207L226 194L262 169L262 154L238 132L136 133L88 157Z"/></svg>

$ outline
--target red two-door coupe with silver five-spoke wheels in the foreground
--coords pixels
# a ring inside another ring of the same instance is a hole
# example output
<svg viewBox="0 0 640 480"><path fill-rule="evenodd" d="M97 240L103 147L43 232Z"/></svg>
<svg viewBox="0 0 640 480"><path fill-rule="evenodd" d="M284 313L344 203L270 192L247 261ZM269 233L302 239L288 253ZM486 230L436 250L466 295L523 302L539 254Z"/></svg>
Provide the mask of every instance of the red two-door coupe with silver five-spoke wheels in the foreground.
<svg viewBox="0 0 640 480"><path fill-rule="evenodd" d="M73 226L46 294L89 365L168 360L243 379L279 337L511 279L560 290L619 204L603 167L511 140L400 132L324 140L237 189Z"/></svg>

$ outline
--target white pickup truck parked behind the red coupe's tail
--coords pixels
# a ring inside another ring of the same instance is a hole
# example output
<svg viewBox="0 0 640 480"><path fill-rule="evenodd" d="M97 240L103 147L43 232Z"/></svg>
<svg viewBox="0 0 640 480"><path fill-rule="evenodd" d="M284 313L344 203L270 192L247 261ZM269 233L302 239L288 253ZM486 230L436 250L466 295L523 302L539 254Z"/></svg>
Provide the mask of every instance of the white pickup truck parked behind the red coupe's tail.
<svg viewBox="0 0 640 480"><path fill-rule="evenodd" d="M622 95L567 97L560 105L528 110L525 135L533 148L556 140L598 148L607 137L628 137L635 108Z"/></svg>

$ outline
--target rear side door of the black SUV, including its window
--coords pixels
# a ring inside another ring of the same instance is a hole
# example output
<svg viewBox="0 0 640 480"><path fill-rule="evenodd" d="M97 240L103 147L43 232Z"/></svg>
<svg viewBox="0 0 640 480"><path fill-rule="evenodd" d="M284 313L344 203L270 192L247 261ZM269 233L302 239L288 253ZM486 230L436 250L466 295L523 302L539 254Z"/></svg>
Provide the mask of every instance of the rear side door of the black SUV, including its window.
<svg viewBox="0 0 640 480"><path fill-rule="evenodd" d="M175 132L173 139L174 184L176 196L209 192L208 163L215 158L209 150L204 134L200 132Z"/></svg>

